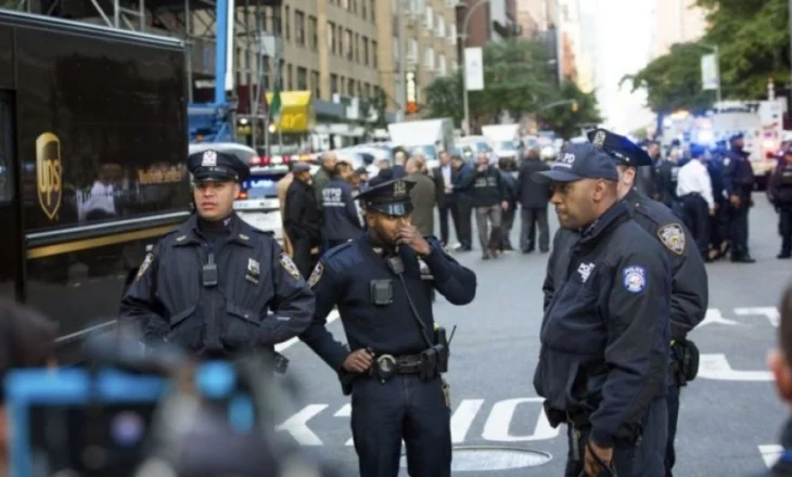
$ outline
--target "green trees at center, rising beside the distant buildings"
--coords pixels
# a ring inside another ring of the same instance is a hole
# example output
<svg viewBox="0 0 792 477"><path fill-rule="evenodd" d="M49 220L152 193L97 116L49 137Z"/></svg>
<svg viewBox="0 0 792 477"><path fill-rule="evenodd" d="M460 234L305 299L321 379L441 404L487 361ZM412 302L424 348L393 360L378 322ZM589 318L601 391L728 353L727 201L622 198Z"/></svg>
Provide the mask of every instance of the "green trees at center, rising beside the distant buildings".
<svg viewBox="0 0 792 477"><path fill-rule="evenodd" d="M559 89L551 69L544 47L537 41L487 43L484 47L485 89L468 93L471 123L491 124L503 112L515 118L536 114L542 106L564 99L577 100L578 111L573 114L566 104L541 112L542 118L559 128L557 132L574 131L577 124L599 121L595 95L583 93L573 83ZM424 90L427 117L450 117L457 126L461 125L464 116L461 75L460 69L437 78Z"/></svg>

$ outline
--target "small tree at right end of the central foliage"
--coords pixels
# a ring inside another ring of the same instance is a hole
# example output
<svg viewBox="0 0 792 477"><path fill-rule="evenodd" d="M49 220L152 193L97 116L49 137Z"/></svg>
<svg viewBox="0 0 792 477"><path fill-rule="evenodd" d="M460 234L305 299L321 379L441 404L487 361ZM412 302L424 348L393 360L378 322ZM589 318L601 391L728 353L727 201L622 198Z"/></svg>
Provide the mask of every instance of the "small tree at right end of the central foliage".
<svg viewBox="0 0 792 477"><path fill-rule="evenodd" d="M546 123L561 138L571 139L578 136L582 125L596 125L602 121L593 91L583 92L574 81L567 80L561 85L557 98L559 102L573 101L574 106L570 104L552 106L539 111L538 116L541 123Z"/></svg>

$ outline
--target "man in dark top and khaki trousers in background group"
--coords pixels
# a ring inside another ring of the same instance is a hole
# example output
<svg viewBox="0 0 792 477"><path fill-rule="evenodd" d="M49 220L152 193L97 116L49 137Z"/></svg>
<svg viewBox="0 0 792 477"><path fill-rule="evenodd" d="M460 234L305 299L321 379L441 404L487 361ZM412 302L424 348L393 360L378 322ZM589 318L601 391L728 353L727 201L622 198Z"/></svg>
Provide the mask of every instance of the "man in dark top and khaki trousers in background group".
<svg viewBox="0 0 792 477"><path fill-rule="evenodd" d="M509 207L506 201L506 184L498 169L489 164L486 153L480 153L472 180L473 208L475 209L478 243L482 246L482 259L489 260L498 256L500 248L500 229L503 210Z"/></svg>

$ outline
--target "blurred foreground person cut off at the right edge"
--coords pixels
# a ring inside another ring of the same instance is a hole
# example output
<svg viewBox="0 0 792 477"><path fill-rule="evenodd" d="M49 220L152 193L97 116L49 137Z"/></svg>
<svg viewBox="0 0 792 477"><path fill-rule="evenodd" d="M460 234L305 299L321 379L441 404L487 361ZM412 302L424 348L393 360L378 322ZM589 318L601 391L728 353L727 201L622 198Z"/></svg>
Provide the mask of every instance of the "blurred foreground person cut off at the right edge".
<svg viewBox="0 0 792 477"><path fill-rule="evenodd" d="M792 407L792 286L788 286L781 296L780 322L778 326L778 345L767 354L767 366L776 381L776 390L788 408ZM789 411L789 409L788 409ZM765 477L792 476L792 418L788 416L781 431L781 452L778 461Z"/></svg>

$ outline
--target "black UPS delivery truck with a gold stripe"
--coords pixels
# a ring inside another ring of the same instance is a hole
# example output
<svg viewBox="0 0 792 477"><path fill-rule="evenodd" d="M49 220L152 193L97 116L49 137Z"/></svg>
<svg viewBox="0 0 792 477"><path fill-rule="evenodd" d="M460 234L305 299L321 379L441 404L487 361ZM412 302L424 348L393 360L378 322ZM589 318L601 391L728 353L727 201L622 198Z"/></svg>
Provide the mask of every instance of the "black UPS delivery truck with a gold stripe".
<svg viewBox="0 0 792 477"><path fill-rule="evenodd" d="M0 297L71 360L190 214L178 40L0 10Z"/></svg>

